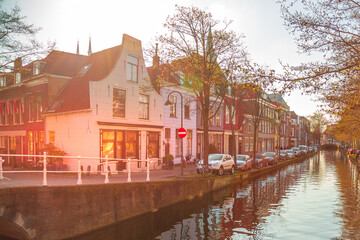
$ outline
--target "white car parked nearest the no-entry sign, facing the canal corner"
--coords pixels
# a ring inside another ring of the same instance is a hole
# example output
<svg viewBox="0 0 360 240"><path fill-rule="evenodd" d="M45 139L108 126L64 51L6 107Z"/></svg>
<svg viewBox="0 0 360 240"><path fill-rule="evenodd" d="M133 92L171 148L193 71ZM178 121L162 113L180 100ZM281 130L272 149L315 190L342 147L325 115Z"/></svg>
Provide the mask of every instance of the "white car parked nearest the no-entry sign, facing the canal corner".
<svg viewBox="0 0 360 240"><path fill-rule="evenodd" d="M218 175L223 175L225 172L233 174L235 172L234 159L229 154L209 154L208 163L211 171ZM197 173L201 173L204 160L200 160L197 165Z"/></svg>

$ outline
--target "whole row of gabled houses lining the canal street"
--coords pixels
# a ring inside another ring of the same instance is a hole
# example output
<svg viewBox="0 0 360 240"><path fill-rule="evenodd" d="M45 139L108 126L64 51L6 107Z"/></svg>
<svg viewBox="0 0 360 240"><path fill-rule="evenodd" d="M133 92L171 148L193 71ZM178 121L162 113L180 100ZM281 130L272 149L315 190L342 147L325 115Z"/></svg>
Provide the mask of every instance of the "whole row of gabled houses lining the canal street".
<svg viewBox="0 0 360 240"><path fill-rule="evenodd" d="M177 163L183 118L184 156L201 158L204 130L197 102L176 78L171 87L158 88L153 79L158 64L156 54L153 66L146 67L141 41L126 34L121 45L88 56L54 50L27 65L17 59L13 72L0 74L0 153L39 155L54 146L69 156L145 160L172 154ZM168 99L170 107L164 105ZM280 95L263 93L261 101L258 151L307 143L306 118L290 111ZM218 152L232 154L234 144L237 153L252 151L253 113L244 106L230 119L226 101L218 104L209 121L210 143ZM4 164L22 168L38 161L6 157ZM63 163L77 169L74 159ZM101 160L82 164L87 170L101 168ZM124 164L111 167L121 170Z"/></svg>

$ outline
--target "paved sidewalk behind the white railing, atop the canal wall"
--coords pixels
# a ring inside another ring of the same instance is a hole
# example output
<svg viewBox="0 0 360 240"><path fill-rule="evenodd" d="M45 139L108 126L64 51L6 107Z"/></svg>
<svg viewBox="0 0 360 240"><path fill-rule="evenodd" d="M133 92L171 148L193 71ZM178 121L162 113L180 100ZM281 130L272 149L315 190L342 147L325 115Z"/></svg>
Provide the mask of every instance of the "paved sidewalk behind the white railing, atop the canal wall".
<svg viewBox="0 0 360 240"><path fill-rule="evenodd" d="M193 173L191 173L193 171ZM192 168L184 168L184 176L196 175ZM4 173L4 179L0 180L0 188L24 187L24 186L42 186L42 173ZM183 177L184 177L183 176ZM171 170L150 170L150 181L159 179L169 179L181 177L180 166L175 166ZM104 184L105 175L101 174L82 174L82 184ZM48 186L76 185L78 175L76 173L48 173ZM109 174L109 183L127 182L128 173ZM146 171L132 172L131 182L146 182Z"/></svg>

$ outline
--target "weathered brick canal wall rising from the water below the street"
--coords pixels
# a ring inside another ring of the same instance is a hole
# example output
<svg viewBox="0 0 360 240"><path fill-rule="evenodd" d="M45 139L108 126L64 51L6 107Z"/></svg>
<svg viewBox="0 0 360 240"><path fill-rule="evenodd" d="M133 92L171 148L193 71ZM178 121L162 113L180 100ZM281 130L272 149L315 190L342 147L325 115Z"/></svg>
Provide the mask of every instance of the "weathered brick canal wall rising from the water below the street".
<svg viewBox="0 0 360 240"><path fill-rule="evenodd" d="M304 158L226 176L0 189L0 234L16 239L67 238L231 186Z"/></svg>

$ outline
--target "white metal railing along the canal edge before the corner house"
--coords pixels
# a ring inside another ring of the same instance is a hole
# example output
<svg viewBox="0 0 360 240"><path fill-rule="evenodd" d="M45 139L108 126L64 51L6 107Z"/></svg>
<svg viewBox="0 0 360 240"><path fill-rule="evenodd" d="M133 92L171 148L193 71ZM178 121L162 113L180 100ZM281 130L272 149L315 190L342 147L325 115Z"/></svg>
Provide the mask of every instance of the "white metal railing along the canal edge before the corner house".
<svg viewBox="0 0 360 240"><path fill-rule="evenodd" d="M43 161L39 161L43 163L42 170L10 170L4 171L3 170L3 157L32 157L32 158L42 158ZM69 158L69 159L77 159L78 160L78 170L77 171L49 171L47 170L47 163L49 158ZM77 173L77 185L82 185L82 173L85 172L81 169L81 163L83 159L88 160L99 160L100 165L104 166L104 170L101 171L86 171L86 173L101 173L105 175L105 184L109 183L109 162L119 162L119 161L126 161L127 162L127 173L128 178L127 182L131 182L131 162L146 162L146 181L150 181L150 164L153 163L152 160L138 160L138 159L119 159L119 158L108 158L106 155L105 158L98 158L98 157L82 157L82 156L54 156L54 155L47 155L44 152L43 155L24 155L24 154L0 154L0 180L4 179L3 173L42 173L43 174L43 186L47 186L47 174L48 173ZM158 161L158 160L156 160ZM117 171L118 172L118 171Z"/></svg>

